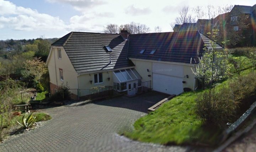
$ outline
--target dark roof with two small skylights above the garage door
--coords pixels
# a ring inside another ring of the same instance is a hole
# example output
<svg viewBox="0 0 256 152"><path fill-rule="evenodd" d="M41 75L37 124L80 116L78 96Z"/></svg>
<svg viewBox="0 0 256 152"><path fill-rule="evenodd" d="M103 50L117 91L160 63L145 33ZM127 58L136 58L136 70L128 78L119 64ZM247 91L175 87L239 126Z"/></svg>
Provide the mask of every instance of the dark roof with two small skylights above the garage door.
<svg viewBox="0 0 256 152"><path fill-rule="evenodd" d="M210 39L198 31L130 34L128 57L197 64L205 44L211 47ZM223 47L217 44L217 48ZM140 54L143 49L144 53ZM154 49L156 51L151 55Z"/></svg>

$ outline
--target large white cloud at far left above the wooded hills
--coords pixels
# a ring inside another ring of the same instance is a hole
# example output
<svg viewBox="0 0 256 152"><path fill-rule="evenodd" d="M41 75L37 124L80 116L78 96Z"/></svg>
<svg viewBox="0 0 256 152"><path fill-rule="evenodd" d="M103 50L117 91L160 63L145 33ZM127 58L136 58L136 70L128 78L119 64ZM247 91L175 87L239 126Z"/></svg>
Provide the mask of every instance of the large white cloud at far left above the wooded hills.
<svg viewBox="0 0 256 152"><path fill-rule="evenodd" d="M68 26L59 18L0 0L0 28L14 30L65 30Z"/></svg>

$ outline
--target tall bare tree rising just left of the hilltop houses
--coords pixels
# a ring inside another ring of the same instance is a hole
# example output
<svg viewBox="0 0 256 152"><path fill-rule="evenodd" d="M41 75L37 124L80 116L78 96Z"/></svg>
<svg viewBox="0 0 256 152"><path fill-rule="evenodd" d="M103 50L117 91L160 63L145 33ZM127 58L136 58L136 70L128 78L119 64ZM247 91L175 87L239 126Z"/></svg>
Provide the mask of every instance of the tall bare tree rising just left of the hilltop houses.
<svg viewBox="0 0 256 152"><path fill-rule="evenodd" d="M175 24L183 24L183 23L194 23L196 19L192 16L190 12L189 6L183 6L182 9L178 11L178 17L175 18L175 22L170 23L172 29L174 28Z"/></svg>

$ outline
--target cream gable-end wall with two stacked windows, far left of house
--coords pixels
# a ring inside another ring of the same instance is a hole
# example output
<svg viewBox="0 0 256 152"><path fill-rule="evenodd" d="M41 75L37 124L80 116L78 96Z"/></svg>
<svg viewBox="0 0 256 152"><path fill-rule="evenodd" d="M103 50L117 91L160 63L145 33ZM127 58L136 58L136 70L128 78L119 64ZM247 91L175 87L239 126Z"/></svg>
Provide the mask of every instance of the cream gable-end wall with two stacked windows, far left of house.
<svg viewBox="0 0 256 152"><path fill-rule="evenodd" d="M58 58L58 49L61 49L61 59ZM63 69L64 80L60 80L59 68ZM52 52L48 62L48 69L50 75L50 83L59 86L68 82L70 89L78 89L78 74L76 73L63 47L52 47Z"/></svg>

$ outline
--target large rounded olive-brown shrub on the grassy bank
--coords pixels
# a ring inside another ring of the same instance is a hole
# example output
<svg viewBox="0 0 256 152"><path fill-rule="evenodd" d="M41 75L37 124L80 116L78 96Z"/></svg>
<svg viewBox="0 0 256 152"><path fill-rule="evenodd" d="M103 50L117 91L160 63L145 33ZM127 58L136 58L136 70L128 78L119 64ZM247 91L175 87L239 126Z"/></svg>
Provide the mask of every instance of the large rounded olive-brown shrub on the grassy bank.
<svg viewBox="0 0 256 152"><path fill-rule="evenodd" d="M196 98L195 111L207 125L223 128L237 108L238 102L234 100L233 92L225 87L219 92L214 89L205 91Z"/></svg>

